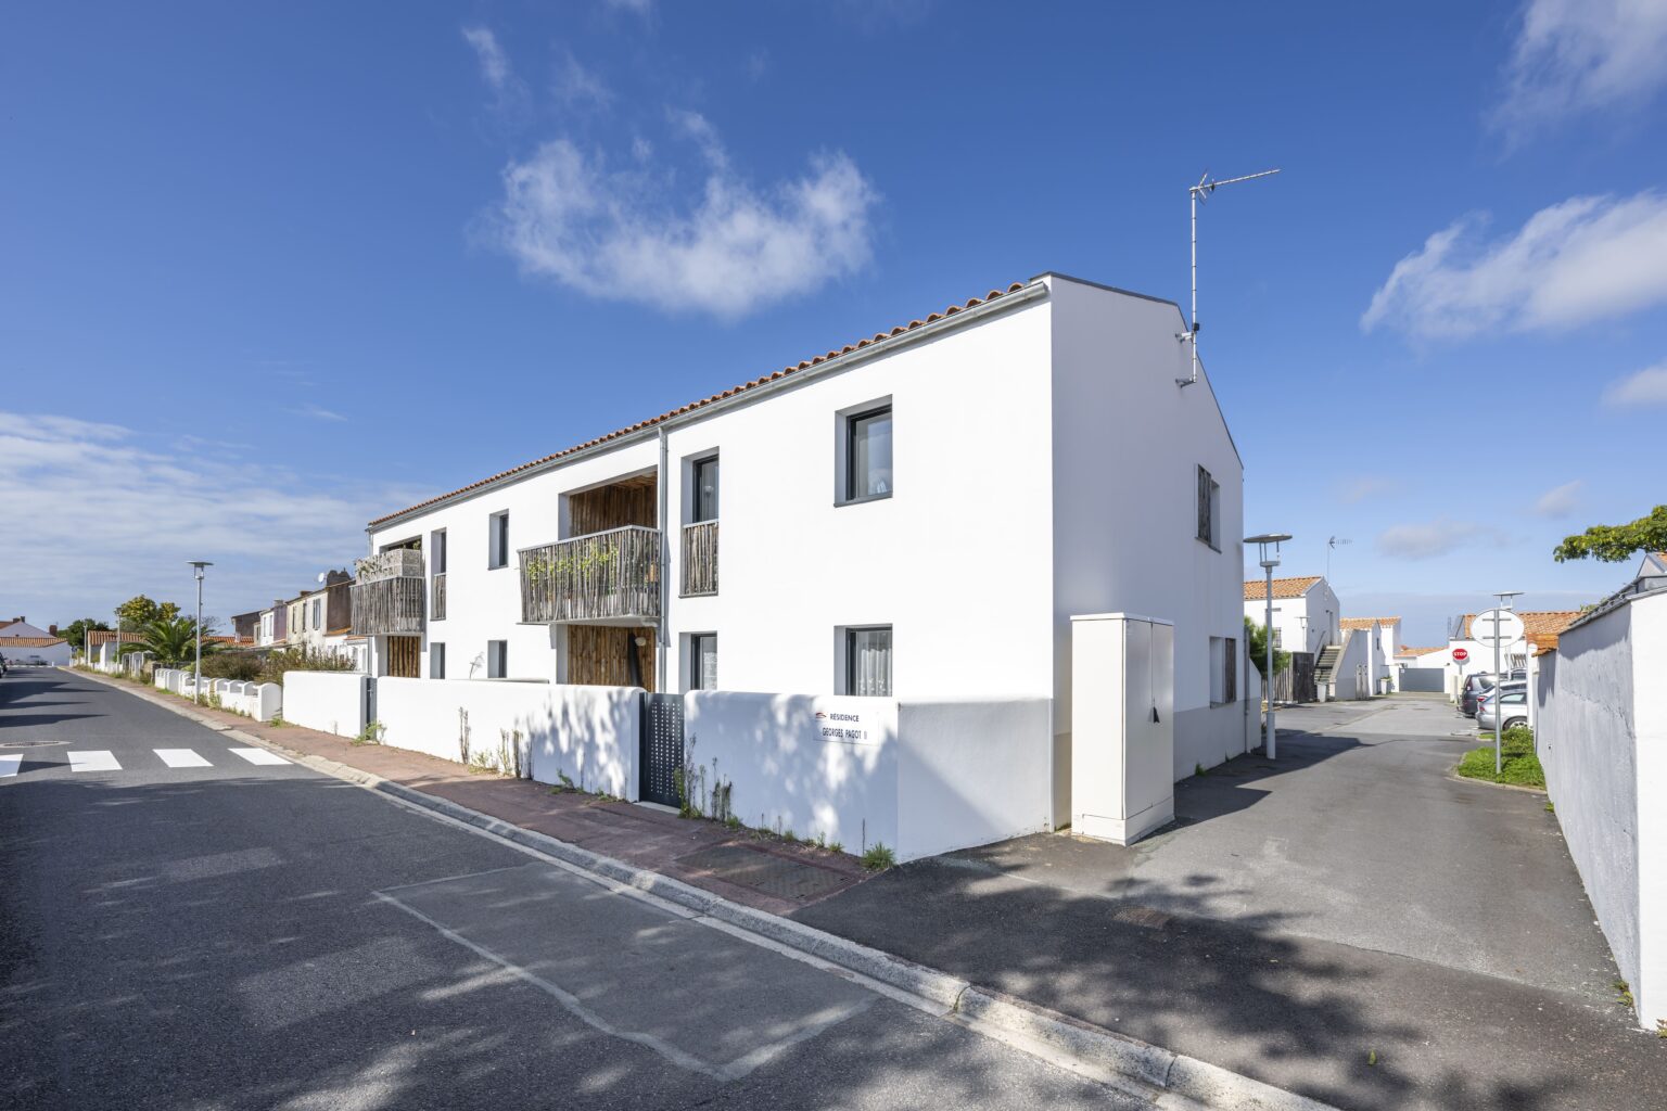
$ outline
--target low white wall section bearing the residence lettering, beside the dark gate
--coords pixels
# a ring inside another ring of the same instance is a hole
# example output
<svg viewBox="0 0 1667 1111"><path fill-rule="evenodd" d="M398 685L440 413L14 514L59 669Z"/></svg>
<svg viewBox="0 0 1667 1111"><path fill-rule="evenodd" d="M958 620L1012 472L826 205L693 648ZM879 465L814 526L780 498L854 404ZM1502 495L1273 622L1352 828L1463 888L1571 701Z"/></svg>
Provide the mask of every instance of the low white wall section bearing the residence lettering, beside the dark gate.
<svg viewBox="0 0 1667 1111"><path fill-rule="evenodd" d="M708 790L732 785L730 810L748 826L820 834L847 853L900 848L892 700L690 691L683 706L685 760Z"/></svg>

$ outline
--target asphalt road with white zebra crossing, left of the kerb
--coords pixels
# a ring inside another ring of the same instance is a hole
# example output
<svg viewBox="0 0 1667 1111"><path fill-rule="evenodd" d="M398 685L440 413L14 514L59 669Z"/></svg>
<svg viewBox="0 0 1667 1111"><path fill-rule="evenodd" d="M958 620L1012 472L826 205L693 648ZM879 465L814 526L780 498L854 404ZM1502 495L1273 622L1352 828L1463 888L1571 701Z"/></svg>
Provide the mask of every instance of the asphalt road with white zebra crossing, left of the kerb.
<svg viewBox="0 0 1667 1111"><path fill-rule="evenodd" d="M240 748L0 680L0 1106L1137 1106Z"/></svg>

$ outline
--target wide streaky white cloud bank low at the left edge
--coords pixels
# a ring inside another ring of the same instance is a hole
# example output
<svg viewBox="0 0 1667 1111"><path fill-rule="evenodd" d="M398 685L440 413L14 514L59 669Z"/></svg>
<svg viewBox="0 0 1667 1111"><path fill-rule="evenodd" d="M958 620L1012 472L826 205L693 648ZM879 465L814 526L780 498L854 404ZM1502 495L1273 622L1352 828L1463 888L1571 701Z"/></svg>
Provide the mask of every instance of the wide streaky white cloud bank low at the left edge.
<svg viewBox="0 0 1667 1111"><path fill-rule="evenodd" d="M340 566L367 520L422 498L67 416L0 413L0 581L45 621L185 601L187 560L215 563L205 610L225 618Z"/></svg>

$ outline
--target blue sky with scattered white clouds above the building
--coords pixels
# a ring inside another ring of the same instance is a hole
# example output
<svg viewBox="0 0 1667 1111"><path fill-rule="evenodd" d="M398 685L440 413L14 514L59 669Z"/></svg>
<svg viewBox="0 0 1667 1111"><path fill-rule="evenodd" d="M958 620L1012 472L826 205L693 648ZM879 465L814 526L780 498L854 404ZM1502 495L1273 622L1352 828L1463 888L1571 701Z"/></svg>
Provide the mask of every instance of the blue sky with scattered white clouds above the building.
<svg viewBox="0 0 1667 1111"><path fill-rule="evenodd" d="M1184 300L1254 531L1432 643L1667 500L1667 3L33 5L0 606L375 515L1044 270ZM1502 446L1492 448L1497 440ZM1250 568L1252 571L1255 568Z"/></svg>

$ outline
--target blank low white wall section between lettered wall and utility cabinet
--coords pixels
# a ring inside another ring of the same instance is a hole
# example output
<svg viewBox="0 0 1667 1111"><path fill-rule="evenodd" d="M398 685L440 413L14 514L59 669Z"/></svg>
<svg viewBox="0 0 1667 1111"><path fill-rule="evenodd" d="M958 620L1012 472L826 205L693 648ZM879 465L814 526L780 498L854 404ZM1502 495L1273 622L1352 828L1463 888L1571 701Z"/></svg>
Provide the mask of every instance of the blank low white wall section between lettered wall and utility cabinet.
<svg viewBox="0 0 1667 1111"><path fill-rule="evenodd" d="M1049 698L900 701L897 858L1050 830L1050 711Z"/></svg>

